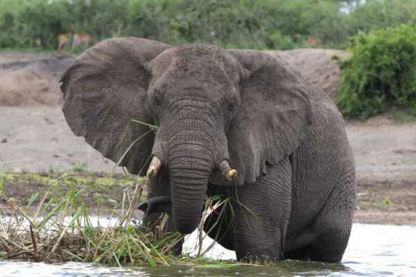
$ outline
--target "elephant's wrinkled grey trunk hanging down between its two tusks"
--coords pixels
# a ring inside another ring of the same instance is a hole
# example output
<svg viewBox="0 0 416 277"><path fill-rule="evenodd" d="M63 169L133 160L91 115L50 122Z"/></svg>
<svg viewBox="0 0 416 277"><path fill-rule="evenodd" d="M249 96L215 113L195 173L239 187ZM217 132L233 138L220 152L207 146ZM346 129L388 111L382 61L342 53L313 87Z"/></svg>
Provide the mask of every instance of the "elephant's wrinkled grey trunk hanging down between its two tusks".
<svg viewBox="0 0 416 277"><path fill-rule="evenodd" d="M168 141L172 221L180 233L191 233L200 221L209 176L218 163L222 145L218 134L200 126L200 122L180 127Z"/></svg>

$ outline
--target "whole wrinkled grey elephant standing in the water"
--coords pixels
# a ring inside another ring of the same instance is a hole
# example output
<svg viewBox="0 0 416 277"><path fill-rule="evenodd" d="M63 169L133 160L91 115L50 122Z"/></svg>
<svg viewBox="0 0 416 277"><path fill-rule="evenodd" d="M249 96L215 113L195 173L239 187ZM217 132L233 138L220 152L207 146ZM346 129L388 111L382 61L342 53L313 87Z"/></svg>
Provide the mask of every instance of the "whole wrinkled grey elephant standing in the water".
<svg viewBox="0 0 416 277"><path fill-rule="evenodd" d="M227 210L210 235L220 231L219 243L239 260L340 262L355 201L343 118L321 89L280 60L211 45L107 39L67 69L61 90L69 127L113 161L149 130L130 123L123 141L130 119L159 126L123 165L145 175L150 155L162 161L148 197L171 201L171 229L196 229L205 194L238 197L259 219L233 202L234 219ZM223 160L236 181L218 172ZM145 221L161 209L152 211Z"/></svg>

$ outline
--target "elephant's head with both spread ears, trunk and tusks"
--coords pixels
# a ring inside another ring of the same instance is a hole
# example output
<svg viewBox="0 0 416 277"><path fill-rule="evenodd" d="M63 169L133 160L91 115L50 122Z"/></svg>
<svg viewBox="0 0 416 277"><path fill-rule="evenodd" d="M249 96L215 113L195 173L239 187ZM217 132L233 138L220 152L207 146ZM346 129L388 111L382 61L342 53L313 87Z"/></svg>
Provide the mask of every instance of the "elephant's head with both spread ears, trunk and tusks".
<svg viewBox="0 0 416 277"><path fill-rule="evenodd" d="M306 87L281 61L211 45L107 39L67 69L61 90L69 127L103 156L118 161L141 137L121 165L148 168L149 177L164 168L181 233L196 229L209 183L241 186L267 174L312 120ZM130 124L123 137L131 119L159 129Z"/></svg>

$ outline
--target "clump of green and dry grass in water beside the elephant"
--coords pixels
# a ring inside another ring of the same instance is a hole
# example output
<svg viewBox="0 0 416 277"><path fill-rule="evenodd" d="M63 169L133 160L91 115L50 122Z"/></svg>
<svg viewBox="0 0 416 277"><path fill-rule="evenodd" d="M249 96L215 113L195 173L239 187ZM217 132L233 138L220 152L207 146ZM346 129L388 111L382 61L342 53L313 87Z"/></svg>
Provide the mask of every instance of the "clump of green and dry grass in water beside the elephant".
<svg viewBox="0 0 416 277"><path fill-rule="evenodd" d="M31 195L27 205L8 197L3 190L3 175L0 178L1 260L83 261L118 266L229 263L200 256L174 256L172 252L184 236L179 232L163 231L167 215L159 218L157 232L150 231L147 226L137 225L134 215L144 194L145 181L139 181L120 191L123 200L112 200L114 208L107 208L110 220L116 224L103 226L99 221L103 210L101 194L96 193L94 203L86 203L83 194L89 187L76 190L73 175L56 179L43 196L38 193ZM71 186L62 186L66 188L64 190L60 185L67 184L68 181ZM92 186L95 188L97 185ZM105 189L114 188L107 185ZM222 203L214 203L215 200L218 199L212 200L212 204L207 206L218 207L227 203L224 200ZM34 203L36 207L33 207ZM97 224L93 224L88 215L91 208L98 211Z"/></svg>

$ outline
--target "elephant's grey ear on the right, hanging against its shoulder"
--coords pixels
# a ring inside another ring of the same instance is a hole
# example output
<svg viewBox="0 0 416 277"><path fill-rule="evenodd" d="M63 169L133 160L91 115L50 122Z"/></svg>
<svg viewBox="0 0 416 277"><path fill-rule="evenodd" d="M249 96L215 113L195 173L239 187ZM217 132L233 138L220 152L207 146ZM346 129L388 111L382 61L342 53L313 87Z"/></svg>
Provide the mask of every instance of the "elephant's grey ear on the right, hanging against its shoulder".
<svg viewBox="0 0 416 277"><path fill-rule="evenodd" d="M243 66L241 107L227 132L229 164L251 183L300 145L313 121L304 81L266 53L230 50Z"/></svg>

